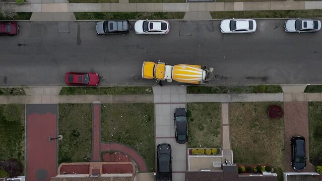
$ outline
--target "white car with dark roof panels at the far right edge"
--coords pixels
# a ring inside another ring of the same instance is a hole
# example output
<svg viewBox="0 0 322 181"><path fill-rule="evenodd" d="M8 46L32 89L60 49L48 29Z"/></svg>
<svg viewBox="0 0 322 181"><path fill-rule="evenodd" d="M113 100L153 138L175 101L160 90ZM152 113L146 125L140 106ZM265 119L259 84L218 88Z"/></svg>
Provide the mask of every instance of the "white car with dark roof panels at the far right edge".
<svg viewBox="0 0 322 181"><path fill-rule="evenodd" d="M287 20L284 24L285 32L287 33L305 33L317 32L321 29L321 22L318 20Z"/></svg>

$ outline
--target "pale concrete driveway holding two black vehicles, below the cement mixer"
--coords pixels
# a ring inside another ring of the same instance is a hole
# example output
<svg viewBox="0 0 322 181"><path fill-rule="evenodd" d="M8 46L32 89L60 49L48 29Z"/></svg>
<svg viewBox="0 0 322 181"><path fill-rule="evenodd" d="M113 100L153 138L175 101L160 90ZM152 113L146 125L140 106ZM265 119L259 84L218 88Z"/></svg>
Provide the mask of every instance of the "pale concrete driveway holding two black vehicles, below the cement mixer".
<svg viewBox="0 0 322 181"><path fill-rule="evenodd" d="M185 180L187 170L186 144L178 144L175 140L173 111L177 107L185 108L185 87L153 87L155 96L155 143L168 143L172 150L172 179L176 181ZM160 98L156 98L160 97ZM176 103L160 103L175 100ZM173 98L173 99L170 99ZM177 98L177 99L175 99ZM180 103L182 102L182 103Z"/></svg>

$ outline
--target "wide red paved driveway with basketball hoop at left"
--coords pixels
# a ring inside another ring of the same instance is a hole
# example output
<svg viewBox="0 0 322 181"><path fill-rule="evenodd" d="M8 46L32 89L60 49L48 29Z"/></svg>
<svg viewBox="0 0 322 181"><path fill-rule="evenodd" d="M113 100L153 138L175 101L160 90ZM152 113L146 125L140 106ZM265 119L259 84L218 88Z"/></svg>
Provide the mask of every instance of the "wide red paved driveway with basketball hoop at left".
<svg viewBox="0 0 322 181"><path fill-rule="evenodd" d="M38 169L45 169L50 180L56 175L57 144L53 140L50 144L49 135L57 135L57 115L47 113L39 115L33 113L27 115L27 179L28 181L39 180L36 177Z"/></svg>

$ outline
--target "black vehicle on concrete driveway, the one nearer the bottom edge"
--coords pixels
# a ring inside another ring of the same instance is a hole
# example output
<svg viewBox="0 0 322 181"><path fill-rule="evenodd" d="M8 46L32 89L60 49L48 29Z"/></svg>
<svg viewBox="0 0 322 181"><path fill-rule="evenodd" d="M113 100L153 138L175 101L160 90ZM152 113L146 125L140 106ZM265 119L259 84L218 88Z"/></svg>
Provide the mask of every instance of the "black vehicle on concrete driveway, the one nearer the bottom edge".
<svg viewBox="0 0 322 181"><path fill-rule="evenodd" d="M157 146L157 181L171 181L171 146L162 143Z"/></svg>

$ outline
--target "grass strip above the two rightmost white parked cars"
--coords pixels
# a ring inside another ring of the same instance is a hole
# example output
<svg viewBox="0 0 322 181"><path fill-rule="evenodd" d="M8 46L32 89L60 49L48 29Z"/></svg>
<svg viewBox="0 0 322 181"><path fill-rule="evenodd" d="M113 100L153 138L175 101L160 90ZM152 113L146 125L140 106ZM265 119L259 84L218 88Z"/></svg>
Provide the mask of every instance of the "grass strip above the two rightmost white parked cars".
<svg viewBox="0 0 322 181"><path fill-rule="evenodd" d="M322 10L228 11L210 12L213 19L225 18L318 18Z"/></svg>

